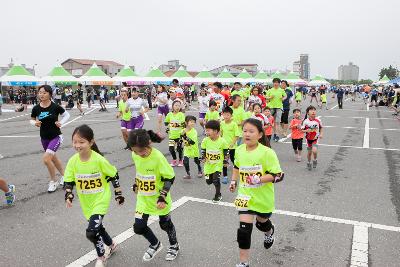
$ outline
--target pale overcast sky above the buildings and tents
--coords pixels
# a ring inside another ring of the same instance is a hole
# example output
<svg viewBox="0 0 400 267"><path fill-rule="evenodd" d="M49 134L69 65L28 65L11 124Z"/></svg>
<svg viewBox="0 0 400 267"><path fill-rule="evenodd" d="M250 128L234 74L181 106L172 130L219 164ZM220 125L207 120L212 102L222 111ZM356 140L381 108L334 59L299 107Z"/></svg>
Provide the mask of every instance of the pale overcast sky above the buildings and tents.
<svg viewBox="0 0 400 267"><path fill-rule="evenodd" d="M47 74L67 58L188 70L257 63L292 69L310 55L311 75L337 78L349 61L360 78L400 67L399 0L24 0L1 1L0 66L10 58Z"/></svg>

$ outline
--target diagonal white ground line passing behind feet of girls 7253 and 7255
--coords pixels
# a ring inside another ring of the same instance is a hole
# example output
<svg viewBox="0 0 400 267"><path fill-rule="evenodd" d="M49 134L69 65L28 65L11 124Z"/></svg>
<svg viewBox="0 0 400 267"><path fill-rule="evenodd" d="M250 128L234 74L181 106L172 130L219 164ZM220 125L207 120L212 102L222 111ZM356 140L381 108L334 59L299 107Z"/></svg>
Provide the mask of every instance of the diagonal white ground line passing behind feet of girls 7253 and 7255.
<svg viewBox="0 0 400 267"><path fill-rule="evenodd" d="M178 199L177 201L172 203L171 211L173 211L173 210L179 208L180 206L184 205L187 201L188 201L187 197L181 197L180 199ZM154 223L154 222L156 222L158 220L159 220L158 217L150 217L149 220L148 220L147 225L150 225L150 224L152 224L152 223ZM116 237L114 237L113 240L115 242L117 242L118 244L121 244L121 243L125 242L126 240L128 240L129 238L131 238L134 235L135 235L135 233L133 232L133 229L129 228L129 229L125 230L124 232L120 233L119 235L117 235ZM93 249L92 251L86 253L82 257L80 257L77 260L75 260L74 262L68 264L67 267L82 267L82 266L86 266L89 263L91 263L92 261L94 261L95 259L97 259L97 253L96 253L96 250Z"/></svg>

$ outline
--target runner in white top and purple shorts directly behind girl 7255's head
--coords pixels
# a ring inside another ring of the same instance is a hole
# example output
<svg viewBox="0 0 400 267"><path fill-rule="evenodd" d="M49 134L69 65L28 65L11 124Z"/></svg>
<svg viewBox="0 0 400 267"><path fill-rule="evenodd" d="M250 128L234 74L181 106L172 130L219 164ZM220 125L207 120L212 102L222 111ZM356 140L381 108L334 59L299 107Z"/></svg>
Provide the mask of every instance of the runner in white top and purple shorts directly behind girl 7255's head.
<svg viewBox="0 0 400 267"><path fill-rule="evenodd" d="M131 127L132 129L141 129L144 125L144 113L149 111L149 103L147 100L139 97L136 87L132 88L132 98L128 99L125 112L131 111Z"/></svg>

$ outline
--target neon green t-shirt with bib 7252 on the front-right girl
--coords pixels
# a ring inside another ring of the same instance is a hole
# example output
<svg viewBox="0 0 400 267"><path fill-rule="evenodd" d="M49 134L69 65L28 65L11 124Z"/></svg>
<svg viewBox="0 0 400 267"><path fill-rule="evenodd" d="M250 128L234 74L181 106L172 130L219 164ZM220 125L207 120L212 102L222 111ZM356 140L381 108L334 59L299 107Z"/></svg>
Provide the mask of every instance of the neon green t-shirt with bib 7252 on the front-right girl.
<svg viewBox="0 0 400 267"><path fill-rule="evenodd" d="M246 182L249 175L264 175L282 172L275 152L262 144L253 151L247 151L246 145L235 150L235 166L239 168L238 195L235 206L238 210L252 210L260 213L273 212L275 209L275 193L273 183L251 185Z"/></svg>

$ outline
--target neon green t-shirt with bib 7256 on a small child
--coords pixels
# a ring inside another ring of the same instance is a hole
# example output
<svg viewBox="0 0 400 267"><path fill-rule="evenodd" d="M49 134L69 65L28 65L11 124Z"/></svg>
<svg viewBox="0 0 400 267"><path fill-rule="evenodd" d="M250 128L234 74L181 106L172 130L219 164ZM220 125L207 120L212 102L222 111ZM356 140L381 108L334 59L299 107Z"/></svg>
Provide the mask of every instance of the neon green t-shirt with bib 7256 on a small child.
<svg viewBox="0 0 400 267"><path fill-rule="evenodd" d="M204 174L222 172L224 161L224 149L228 149L225 139L218 137L217 140L211 140L206 137L201 142L201 149L206 150L206 162L204 163Z"/></svg>

